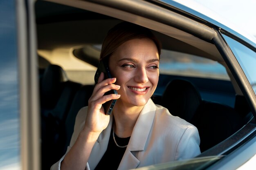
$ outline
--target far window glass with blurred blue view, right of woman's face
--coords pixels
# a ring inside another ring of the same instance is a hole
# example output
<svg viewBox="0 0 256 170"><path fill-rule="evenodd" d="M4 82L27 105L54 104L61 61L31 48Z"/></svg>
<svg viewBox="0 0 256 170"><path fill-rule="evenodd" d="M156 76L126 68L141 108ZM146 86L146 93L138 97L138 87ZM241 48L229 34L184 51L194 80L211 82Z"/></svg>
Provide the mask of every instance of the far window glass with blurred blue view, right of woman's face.
<svg viewBox="0 0 256 170"><path fill-rule="evenodd" d="M220 63L175 51L162 50L159 69L160 74L229 80L225 67Z"/></svg>

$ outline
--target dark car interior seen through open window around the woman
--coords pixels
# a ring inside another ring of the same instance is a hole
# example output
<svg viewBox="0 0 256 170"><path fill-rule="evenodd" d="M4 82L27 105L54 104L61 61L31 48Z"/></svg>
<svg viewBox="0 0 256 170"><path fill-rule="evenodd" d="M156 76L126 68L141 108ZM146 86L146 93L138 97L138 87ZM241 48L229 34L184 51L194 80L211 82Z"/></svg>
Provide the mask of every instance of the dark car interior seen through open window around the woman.
<svg viewBox="0 0 256 170"><path fill-rule="evenodd" d="M107 31L124 20L148 27L162 43L159 83L152 99L198 128L201 152L252 119L243 93L211 41L126 12L115 17L107 10L101 14L86 8L35 3L42 169L65 154L76 114L88 105L94 88L101 43Z"/></svg>

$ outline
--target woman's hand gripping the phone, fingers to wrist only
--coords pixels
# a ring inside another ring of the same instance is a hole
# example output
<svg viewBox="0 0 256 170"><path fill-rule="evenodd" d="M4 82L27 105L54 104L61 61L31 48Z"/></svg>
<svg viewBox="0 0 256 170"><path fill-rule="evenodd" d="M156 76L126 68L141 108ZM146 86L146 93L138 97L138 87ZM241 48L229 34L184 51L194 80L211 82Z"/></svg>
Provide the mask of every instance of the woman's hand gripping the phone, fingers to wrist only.
<svg viewBox="0 0 256 170"><path fill-rule="evenodd" d="M108 126L110 116L105 115L103 104L112 99L119 99L120 95L104 94L110 90L119 90L120 86L113 84L115 82L116 78L104 79L103 73L99 76L98 83L95 85L92 96L88 101L88 114L84 130L101 133Z"/></svg>

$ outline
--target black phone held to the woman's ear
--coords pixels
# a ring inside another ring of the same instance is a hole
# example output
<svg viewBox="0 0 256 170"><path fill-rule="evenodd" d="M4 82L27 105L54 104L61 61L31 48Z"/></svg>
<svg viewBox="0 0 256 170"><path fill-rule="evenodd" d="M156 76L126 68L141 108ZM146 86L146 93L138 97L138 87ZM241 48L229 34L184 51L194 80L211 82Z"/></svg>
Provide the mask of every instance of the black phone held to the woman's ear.
<svg viewBox="0 0 256 170"><path fill-rule="evenodd" d="M99 62L99 66L98 66L97 71L94 75L94 81L95 81L96 84L98 83L98 79L99 79L99 76L101 75L101 72L104 73L104 79L112 78L112 76L110 74L109 67L108 67L108 57L104 57ZM110 91L106 92L104 95L108 95L108 94L116 94L117 95L117 91L116 90L110 90ZM116 102L117 102L117 99L114 99L114 100L110 100L109 102L106 102L105 104L103 104L106 115L111 114Z"/></svg>

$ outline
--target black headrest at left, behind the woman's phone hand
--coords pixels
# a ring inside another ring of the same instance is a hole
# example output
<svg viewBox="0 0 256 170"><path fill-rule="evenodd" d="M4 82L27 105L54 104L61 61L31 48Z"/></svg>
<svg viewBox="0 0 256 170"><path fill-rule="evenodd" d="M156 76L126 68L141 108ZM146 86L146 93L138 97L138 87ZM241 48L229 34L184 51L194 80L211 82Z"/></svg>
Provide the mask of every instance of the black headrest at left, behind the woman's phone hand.
<svg viewBox="0 0 256 170"><path fill-rule="evenodd" d="M41 104L54 107L61 95L62 82L67 81L64 70L58 65L49 65L43 74L40 84Z"/></svg>

